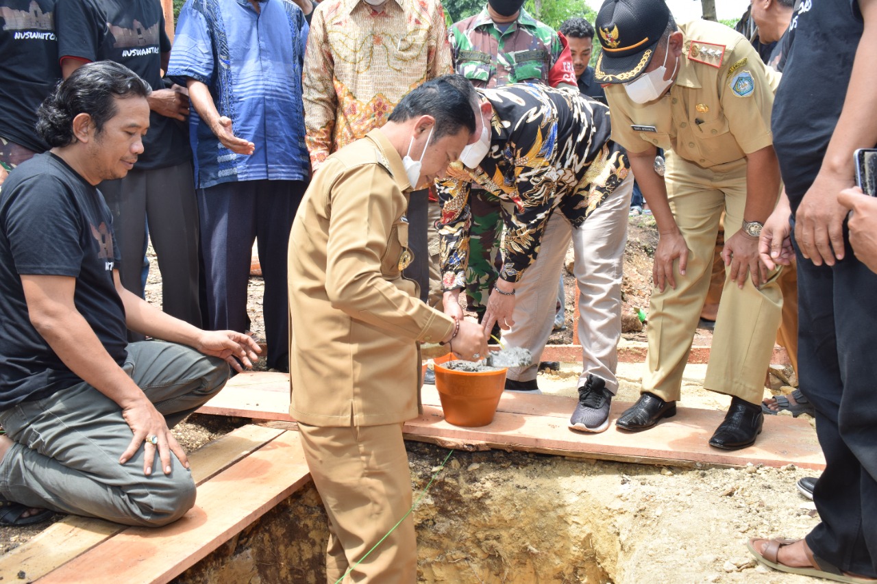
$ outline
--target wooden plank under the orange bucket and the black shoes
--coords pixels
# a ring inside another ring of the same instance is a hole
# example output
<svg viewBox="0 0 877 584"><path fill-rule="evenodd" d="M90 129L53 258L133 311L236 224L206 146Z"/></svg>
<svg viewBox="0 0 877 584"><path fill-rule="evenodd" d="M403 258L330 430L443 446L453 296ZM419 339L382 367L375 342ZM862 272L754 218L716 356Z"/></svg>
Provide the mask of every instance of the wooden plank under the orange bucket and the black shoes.
<svg viewBox="0 0 877 584"><path fill-rule="evenodd" d="M802 419L766 416L764 431L755 445L724 451L707 444L724 418L723 411L677 408L675 417L645 432L627 432L610 424L607 431L589 434L567 427L575 408L572 397L503 394L493 423L481 428L448 424L434 388L424 388L422 399L424 415L405 424L407 438L472 440L498 448L652 464L745 466L752 462L765 466L795 464L815 470L825 467L816 432ZM630 405L612 402L611 419Z"/></svg>

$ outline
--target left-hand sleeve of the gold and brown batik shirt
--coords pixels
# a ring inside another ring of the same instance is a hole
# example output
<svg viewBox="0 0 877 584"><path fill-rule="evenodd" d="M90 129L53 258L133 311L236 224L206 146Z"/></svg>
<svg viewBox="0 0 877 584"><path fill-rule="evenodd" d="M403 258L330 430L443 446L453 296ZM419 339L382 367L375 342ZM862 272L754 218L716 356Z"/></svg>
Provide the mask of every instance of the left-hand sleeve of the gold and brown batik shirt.
<svg viewBox="0 0 877 584"><path fill-rule="evenodd" d="M313 13L304 54L302 97L304 101L304 143L310 153L311 170L316 171L332 153L332 134L338 97L335 95L334 67L325 30L325 10Z"/></svg>

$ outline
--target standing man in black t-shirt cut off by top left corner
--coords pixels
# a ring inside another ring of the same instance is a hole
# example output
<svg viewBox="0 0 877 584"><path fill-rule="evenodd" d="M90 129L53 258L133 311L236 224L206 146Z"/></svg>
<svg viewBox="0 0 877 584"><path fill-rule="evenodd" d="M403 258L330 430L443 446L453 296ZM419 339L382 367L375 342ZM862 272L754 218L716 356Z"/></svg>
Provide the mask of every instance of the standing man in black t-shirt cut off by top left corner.
<svg viewBox="0 0 877 584"><path fill-rule="evenodd" d="M37 108L61 79L55 0L0 0L0 184L7 171L48 146Z"/></svg>

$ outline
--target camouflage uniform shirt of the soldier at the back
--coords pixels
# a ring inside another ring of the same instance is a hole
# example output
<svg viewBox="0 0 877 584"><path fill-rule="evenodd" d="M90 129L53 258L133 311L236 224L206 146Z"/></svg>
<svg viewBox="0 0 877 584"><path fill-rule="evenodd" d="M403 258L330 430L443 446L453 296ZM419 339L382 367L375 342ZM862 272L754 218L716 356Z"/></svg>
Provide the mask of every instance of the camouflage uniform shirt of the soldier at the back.
<svg viewBox="0 0 877 584"><path fill-rule="evenodd" d="M503 32L485 7L454 24L450 39L454 69L476 88L518 82L576 85L573 59L560 35L523 8Z"/></svg>

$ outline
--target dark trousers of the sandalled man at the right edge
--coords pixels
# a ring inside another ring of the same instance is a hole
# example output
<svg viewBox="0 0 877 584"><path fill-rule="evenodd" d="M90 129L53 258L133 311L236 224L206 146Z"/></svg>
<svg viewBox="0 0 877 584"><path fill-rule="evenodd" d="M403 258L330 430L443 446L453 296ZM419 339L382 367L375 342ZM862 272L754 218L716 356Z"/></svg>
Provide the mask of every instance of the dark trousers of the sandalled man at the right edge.
<svg viewBox="0 0 877 584"><path fill-rule="evenodd" d="M877 577L877 274L846 242L844 260L798 261L798 378L816 408L825 471L813 500L822 523L807 536L817 558Z"/></svg>

